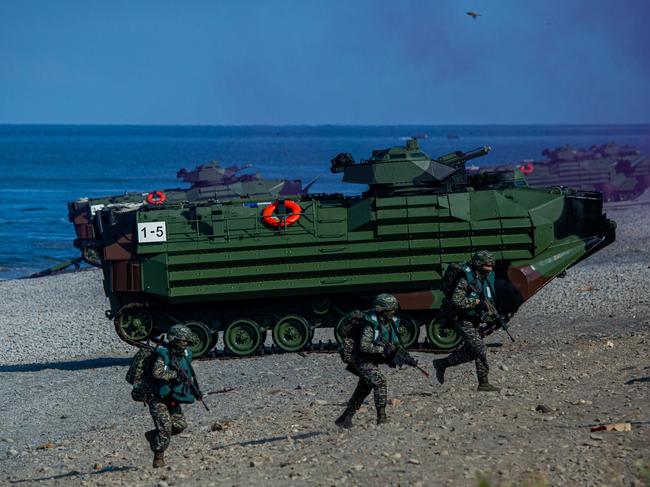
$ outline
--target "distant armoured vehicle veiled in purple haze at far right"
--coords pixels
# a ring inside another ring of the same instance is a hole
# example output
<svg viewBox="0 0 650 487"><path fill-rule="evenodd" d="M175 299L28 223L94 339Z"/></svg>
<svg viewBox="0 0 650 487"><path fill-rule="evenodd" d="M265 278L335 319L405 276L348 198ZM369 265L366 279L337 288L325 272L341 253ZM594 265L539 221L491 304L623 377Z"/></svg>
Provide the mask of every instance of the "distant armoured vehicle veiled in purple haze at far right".
<svg viewBox="0 0 650 487"><path fill-rule="evenodd" d="M574 149L569 145L545 149L546 160L526 160L492 170L518 171L535 188L568 186L600 191L605 201L631 200L650 186L650 158L628 145L614 143Z"/></svg>

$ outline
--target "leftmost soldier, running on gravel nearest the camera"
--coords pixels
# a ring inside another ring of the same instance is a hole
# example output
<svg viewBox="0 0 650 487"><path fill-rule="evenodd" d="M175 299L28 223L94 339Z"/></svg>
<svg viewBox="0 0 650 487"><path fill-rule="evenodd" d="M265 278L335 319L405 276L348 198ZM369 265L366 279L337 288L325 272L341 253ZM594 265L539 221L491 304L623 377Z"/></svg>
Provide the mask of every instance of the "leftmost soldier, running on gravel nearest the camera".
<svg viewBox="0 0 650 487"><path fill-rule="evenodd" d="M165 450L172 435L187 427L181 404L193 403L195 397L189 386L179 379L178 368L182 368L187 377L193 376L192 352L188 346L194 339L188 327L174 325L167 332L168 345L156 348L157 356L151 370L155 395L149 401L155 429L145 433L154 452L154 468L165 465Z"/></svg>

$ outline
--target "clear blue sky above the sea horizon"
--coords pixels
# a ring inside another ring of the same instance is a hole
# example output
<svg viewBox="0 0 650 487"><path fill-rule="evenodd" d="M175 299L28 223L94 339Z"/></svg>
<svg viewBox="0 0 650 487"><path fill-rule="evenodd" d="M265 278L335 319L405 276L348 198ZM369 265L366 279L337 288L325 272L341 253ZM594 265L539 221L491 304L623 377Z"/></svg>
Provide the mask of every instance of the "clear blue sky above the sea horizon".
<svg viewBox="0 0 650 487"><path fill-rule="evenodd" d="M0 123L648 123L649 14L648 0L4 0Z"/></svg>

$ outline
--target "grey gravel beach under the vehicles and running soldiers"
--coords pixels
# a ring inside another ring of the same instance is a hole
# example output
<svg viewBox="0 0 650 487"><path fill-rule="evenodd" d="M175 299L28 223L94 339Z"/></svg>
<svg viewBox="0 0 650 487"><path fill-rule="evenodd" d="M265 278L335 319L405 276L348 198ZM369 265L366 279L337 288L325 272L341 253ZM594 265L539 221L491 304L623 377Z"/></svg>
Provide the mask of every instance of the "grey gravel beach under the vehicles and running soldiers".
<svg viewBox="0 0 650 487"><path fill-rule="evenodd" d="M516 343L489 339L499 394L473 368L439 386L387 369L391 424L369 404L333 426L354 388L335 354L201 361L211 411L186 408L169 467L153 470L144 407L124 373L132 350L104 316L97 271L0 282L1 485L645 485L650 423L647 206L609 208L618 240L527 302ZM417 354L429 369L432 356ZM546 412L536 411L544 405Z"/></svg>

